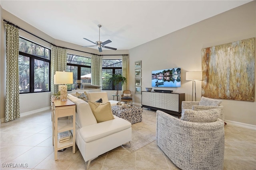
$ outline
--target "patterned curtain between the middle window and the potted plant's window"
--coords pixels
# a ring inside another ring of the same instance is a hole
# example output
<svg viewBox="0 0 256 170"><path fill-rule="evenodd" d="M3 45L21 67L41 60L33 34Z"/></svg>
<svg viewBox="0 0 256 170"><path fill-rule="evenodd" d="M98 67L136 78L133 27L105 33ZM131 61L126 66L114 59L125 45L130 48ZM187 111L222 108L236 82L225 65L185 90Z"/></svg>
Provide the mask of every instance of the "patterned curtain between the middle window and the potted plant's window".
<svg viewBox="0 0 256 170"><path fill-rule="evenodd" d="M92 84L101 86L102 79L102 56L91 55L92 58Z"/></svg>

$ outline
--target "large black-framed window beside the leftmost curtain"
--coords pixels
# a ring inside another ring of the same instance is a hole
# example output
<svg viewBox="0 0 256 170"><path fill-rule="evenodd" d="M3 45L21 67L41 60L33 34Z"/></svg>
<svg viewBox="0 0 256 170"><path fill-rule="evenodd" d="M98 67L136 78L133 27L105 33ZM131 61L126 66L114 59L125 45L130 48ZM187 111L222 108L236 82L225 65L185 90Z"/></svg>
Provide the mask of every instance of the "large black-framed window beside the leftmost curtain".
<svg viewBox="0 0 256 170"><path fill-rule="evenodd" d="M21 37L19 41L20 93L50 91L50 49Z"/></svg>

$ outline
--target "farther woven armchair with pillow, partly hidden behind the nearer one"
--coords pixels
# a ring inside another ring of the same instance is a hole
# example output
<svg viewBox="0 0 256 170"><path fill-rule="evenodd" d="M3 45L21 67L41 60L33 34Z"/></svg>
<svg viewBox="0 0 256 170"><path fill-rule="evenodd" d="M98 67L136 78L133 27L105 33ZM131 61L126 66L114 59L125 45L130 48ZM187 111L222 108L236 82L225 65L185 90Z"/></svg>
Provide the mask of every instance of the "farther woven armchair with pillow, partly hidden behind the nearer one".
<svg viewBox="0 0 256 170"><path fill-rule="evenodd" d="M202 96L200 102L196 101L182 101L181 109L192 109L192 110L208 110L220 108L220 119L224 121L224 106L220 105L221 100L215 100ZM225 123L226 124L226 123Z"/></svg>

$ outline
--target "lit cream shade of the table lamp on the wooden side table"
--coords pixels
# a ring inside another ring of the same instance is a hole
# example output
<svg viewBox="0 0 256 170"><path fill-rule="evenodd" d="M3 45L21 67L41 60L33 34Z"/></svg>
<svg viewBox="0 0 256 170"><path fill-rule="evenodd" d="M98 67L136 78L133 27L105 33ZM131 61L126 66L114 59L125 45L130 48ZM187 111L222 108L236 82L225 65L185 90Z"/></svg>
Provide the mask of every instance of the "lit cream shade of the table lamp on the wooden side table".
<svg viewBox="0 0 256 170"><path fill-rule="evenodd" d="M54 84L73 84L73 72L56 71Z"/></svg>

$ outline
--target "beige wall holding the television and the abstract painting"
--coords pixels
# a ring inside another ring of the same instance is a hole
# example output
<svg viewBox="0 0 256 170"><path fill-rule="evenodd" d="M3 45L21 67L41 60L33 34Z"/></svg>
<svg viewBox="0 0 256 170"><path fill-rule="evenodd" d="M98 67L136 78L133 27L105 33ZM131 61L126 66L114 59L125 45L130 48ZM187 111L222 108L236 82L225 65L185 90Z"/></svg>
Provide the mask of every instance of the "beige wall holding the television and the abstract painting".
<svg viewBox="0 0 256 170"><path fill-rule="evenodd" d="M151 87L151 71L181 67L180 88L154 88L185 93L191 101L192 82L186 72L202 70L201 49L256 37L256 1L224 12L130 49L130 86L134 91L134 62L142 61L142 90ZM220 68L221 69L221 68ZM256 91L256 90L255 90ZM201 98L201 81L196 81L197 101ZM256 96L255 96L256 97ZM141 95L134 95L141 102ZM222 100L225 119L256 125L256 102Z"/></svg>

